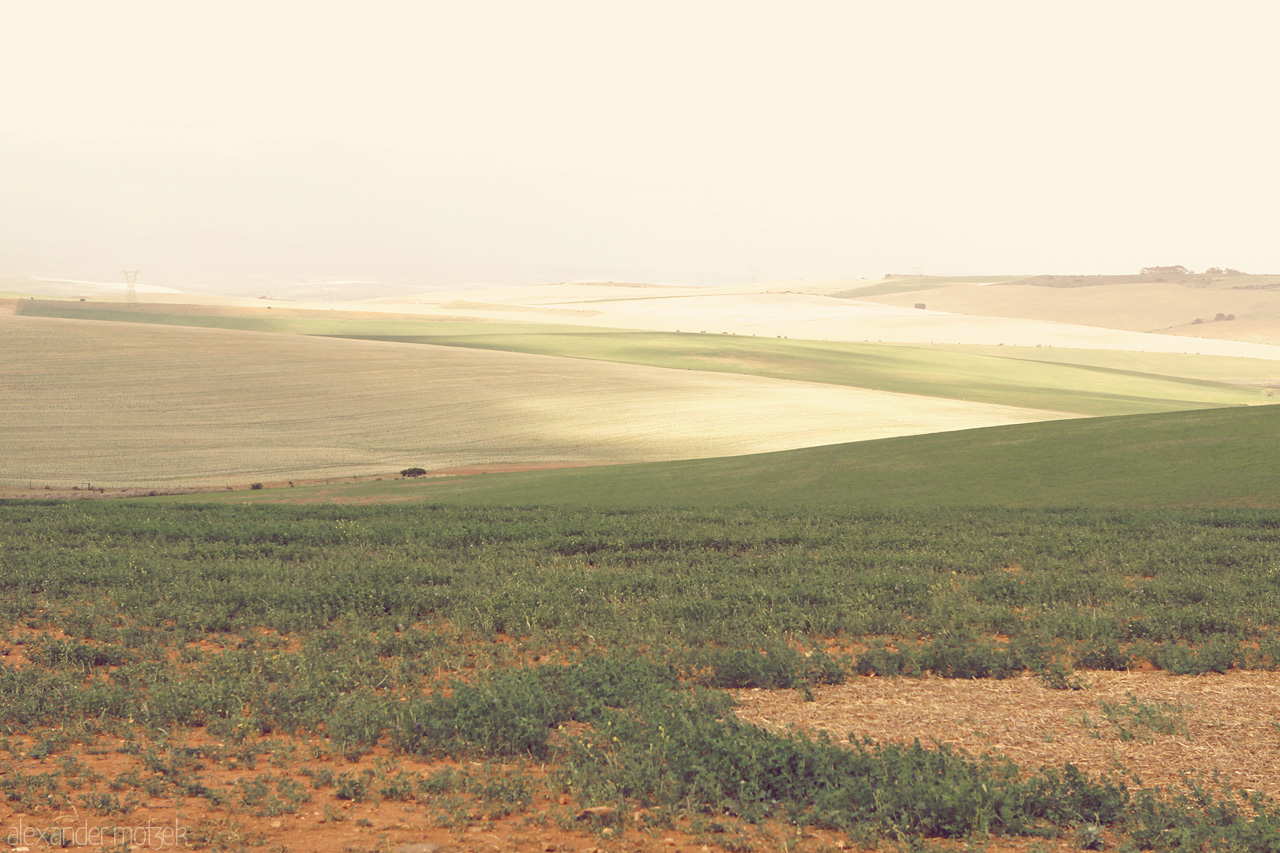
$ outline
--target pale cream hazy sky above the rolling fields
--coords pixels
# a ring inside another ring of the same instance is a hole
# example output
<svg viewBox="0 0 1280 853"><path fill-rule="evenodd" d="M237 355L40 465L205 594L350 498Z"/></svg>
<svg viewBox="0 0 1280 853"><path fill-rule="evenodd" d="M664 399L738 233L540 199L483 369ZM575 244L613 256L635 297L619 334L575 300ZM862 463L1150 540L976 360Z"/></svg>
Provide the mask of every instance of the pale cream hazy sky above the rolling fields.
<svg viewBox="0 0 1280 853"><path fill-rule="evenodd" d="M1277 23L1271 0L0 0L0 274L1277 273Z"/></svg>

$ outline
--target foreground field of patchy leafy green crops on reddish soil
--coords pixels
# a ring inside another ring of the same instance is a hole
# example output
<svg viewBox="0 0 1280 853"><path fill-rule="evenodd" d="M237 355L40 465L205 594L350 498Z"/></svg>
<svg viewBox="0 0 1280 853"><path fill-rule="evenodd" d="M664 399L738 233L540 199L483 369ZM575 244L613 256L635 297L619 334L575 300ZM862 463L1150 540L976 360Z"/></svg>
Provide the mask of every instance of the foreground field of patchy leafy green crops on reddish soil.
<svg viewBox="0 0 1280 853"><path fill-rule="evenodd" d="M177 808L197 849L311 815L355 849L412 838L389 813L733 849L1280 843L1280 807L1221 781L769 733L723 693L1271 671L1270 511L0 502L0 790L45 831ZM1193 736L1194 708L1091 707L1098 736Z"/></svg>

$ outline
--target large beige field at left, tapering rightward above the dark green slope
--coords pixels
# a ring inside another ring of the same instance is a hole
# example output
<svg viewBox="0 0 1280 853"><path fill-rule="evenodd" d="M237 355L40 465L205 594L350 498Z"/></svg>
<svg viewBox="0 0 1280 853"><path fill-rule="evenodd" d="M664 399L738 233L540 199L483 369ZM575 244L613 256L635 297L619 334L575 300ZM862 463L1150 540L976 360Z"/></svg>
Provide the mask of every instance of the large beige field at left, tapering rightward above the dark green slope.
<svg viewBox="0 0 1280 853"><path fill-rule="evenodd" d="M1060 418L513 352L0 316L0 484L727 456Z"/></svg>

